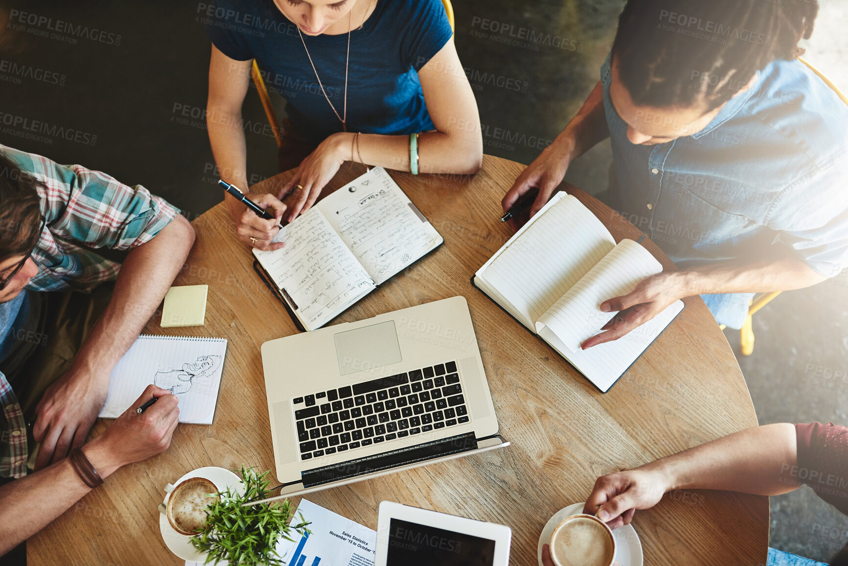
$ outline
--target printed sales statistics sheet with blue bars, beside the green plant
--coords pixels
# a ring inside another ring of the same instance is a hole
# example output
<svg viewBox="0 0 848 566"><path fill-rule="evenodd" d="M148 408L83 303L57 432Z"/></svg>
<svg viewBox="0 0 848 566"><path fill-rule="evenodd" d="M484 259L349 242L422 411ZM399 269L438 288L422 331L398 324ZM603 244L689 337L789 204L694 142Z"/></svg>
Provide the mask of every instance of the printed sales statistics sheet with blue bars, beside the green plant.
<svg viewBox="0 0 848 566"><path fill-rule="evenodd" d="M276 553L290 566L374 566L377 531L325 509L306 499L300 500L292 522L303 516L311 532L293 541L281 539Z"/></svg>

